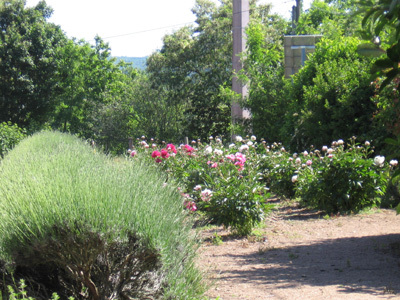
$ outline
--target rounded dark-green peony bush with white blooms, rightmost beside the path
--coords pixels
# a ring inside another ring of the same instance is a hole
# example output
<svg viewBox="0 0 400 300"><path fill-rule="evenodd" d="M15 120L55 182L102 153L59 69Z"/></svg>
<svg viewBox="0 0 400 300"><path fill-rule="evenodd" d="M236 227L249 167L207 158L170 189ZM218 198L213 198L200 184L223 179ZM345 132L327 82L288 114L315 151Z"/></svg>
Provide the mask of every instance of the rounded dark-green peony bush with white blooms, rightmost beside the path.
<svg viewBox="0 0 400 300"><path fill-rule="evenodd" d="M296 196L305 205L328 213L379 206L389 179L385 158L367 158L370 147L360 146L354 139L347 147L341 140L333 145L325 155L314 151L299 168Z"/></svg>

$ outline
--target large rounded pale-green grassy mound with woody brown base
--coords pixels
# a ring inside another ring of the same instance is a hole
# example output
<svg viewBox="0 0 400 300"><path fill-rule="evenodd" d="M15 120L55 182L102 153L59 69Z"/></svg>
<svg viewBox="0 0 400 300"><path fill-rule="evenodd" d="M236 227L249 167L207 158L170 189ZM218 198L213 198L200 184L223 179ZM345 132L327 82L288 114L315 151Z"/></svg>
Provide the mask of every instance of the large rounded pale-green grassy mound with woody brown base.
<svg viewBox="0 0 400 300"><path fill-rule="evenodd" d="M198 298L192 224L164 181L67 134L23 140L0 164L5 270L37 298Z"/></svg>

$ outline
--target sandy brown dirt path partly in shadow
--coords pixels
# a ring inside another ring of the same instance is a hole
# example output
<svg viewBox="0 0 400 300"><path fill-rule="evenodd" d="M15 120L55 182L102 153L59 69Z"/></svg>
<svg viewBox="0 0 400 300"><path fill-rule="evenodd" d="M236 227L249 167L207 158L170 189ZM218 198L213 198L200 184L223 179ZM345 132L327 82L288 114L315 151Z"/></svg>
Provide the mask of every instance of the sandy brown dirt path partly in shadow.
<svg viewBox="0 0 400 300"><path fill-rule="evenodd" d="M400 215L393 210L323 218L286 203L254 237L235 239L222 228L203 234L211 299L400 299Z"/></svg>

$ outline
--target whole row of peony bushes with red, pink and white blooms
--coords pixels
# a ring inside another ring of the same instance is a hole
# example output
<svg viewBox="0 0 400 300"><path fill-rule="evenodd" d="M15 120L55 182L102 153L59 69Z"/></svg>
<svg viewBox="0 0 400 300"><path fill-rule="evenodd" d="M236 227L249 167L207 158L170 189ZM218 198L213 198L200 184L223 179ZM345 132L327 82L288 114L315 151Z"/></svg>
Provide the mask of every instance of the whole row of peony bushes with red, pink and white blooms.
<svg viewBox="0 0 400 300"><path fill-rule="evenodd" d="M192 146L146 145L141 141L146 157L178 182L186 209L202 211L240 234L249 233L268 211L268 189L327 212L359 211L380 204L398 165L372 157L370 143L359 145L355 138L299 154L278 143L259 144L255 137L237 137L228 147L218 138Z"/></svg>

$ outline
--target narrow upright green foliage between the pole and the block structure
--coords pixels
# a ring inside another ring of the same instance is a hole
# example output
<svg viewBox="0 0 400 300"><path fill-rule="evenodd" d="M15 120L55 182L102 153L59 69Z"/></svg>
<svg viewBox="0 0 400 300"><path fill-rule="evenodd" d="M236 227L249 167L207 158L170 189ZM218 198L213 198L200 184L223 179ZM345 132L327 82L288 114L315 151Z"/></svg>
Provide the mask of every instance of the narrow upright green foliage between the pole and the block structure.
<svg viewBox="0 0 400 300"><path fill-rule="evenodd" d="M244 106L252 112L253 133L269 142L280 140L287 106L282 93L284 25L283 20L271 17L265 23L253 21L247 29L248 50L242 77L249 80L249 95Z"/></svg>

